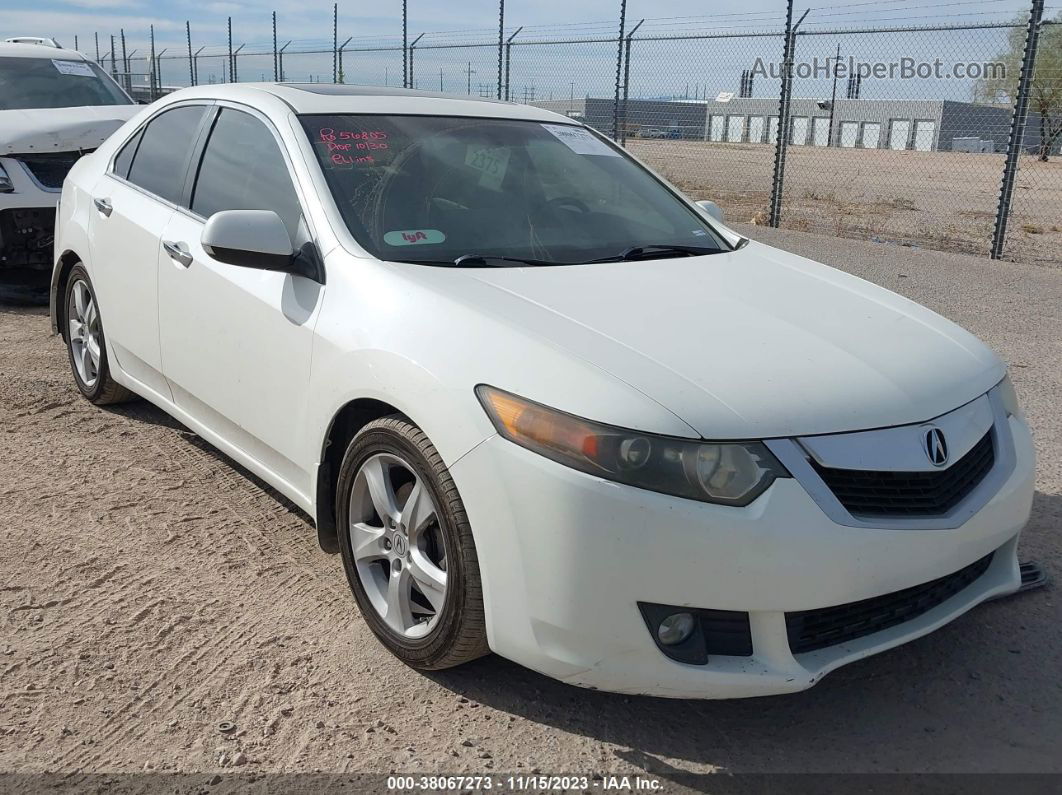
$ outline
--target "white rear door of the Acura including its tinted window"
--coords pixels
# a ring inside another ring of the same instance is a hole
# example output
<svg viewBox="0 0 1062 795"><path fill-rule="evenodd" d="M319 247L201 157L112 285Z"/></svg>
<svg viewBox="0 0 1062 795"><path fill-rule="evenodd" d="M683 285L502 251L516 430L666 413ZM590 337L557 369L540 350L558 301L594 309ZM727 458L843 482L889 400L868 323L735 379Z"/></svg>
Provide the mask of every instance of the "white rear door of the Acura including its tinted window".
<svg viewBox="0 0 1062 795"><path fill-rule="evenodd" d="M92 192L91 277L118 365L169 397L158 344L159 238L185 186L206 106L164 110L115 155Z"/></svg>

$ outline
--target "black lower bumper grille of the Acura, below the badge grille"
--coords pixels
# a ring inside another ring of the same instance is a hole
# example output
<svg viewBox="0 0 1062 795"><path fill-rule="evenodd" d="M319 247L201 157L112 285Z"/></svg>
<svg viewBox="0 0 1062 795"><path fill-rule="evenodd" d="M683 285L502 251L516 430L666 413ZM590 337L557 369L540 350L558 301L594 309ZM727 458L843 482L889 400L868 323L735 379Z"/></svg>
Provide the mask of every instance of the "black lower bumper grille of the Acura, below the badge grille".
<svg viewBox="0 0 1062 795"><path fill-rule="evenodd" d="M994 554L994 553L993 553ZM836 607L786 613L786 633L793 654L844 643L903 624L943 604L981 576L992 554L954 574L884 597Z"/></svg>

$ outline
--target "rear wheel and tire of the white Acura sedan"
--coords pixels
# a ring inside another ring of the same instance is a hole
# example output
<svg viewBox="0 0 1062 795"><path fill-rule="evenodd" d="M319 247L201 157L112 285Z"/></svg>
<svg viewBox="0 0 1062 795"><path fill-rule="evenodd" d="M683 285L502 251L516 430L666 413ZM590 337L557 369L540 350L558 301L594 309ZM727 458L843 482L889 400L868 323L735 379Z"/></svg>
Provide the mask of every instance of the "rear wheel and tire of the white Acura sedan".
<svg viewBox="0 0 1062 795"><path fill-rule="evenodd" d="M120 403L136 397L110 377L100 305L88 272L80 263L67 277L64 306L67 355L81 394L96 405Z"/></svg>

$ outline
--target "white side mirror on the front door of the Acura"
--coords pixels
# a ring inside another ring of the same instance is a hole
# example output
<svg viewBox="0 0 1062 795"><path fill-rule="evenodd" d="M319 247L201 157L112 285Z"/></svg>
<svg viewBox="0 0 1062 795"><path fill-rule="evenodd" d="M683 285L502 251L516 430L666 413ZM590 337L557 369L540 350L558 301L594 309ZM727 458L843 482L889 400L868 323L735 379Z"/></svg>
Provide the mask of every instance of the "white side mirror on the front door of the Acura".
<svg viewBox="0 0 1062 795"><path fill-rule="evenodd" d="M221 210L203 227L203 250L219 262L294 273L288 229L273 210Z"/></svg>

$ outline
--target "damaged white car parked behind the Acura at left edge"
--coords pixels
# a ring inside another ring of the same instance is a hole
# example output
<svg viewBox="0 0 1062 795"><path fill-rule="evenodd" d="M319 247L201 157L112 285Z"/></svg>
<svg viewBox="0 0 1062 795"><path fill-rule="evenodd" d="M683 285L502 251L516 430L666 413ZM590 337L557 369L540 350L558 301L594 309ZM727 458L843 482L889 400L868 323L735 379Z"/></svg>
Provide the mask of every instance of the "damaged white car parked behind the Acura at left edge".
<svg viewBox="0 0 1062 795"><path fill-rule="evenodd" d="M80 52L54 39L0 41L0 299L48 300L63 179L136 110Z"/></svg>

